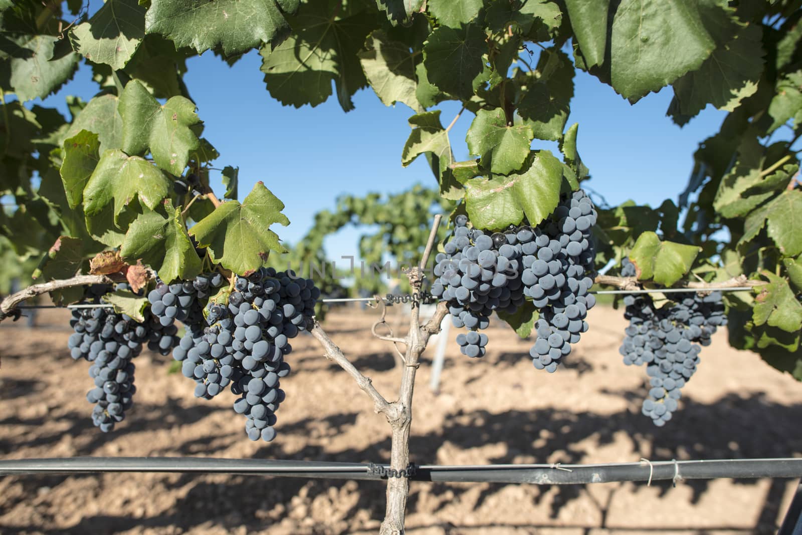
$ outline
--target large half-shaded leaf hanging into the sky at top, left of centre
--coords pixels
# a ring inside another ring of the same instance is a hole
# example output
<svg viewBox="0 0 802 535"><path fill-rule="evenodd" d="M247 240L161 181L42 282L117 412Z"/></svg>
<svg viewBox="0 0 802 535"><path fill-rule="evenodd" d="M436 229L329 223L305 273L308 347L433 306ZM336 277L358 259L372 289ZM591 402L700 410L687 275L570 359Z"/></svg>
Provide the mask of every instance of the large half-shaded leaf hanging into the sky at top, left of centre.
<svg viewBox="0 0 802 535"><path fill-rule="evenodd" d="M292 22L294 34L285 42L259 50L267 91L284 105L315 107L326 102L335 82L340 107L352 110L351 96L366 83L357 53L375 29L375 16L338 18L329 14L327 0L312 0Z"/></svg>

